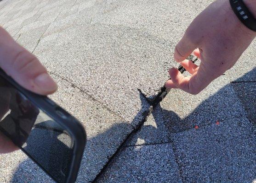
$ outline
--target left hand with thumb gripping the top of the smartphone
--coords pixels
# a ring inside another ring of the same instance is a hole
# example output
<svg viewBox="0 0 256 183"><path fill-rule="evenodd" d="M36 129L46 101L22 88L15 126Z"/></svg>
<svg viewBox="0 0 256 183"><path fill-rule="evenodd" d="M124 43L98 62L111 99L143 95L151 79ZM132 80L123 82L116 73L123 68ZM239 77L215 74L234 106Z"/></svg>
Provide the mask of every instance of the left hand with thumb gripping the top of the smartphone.
<svg viewBox="0 0 256 183"><path fill-rule="evenodd" d="M33 54L16 43L2 27L0 27L0 68L31 92L48 95L57 90L57 84L48 75L46 68ZM1 97L7 102L0 101L0 120L5 110L9 109L8 96ZM17 147L0 132L0 153L15 150Z"/></svg>

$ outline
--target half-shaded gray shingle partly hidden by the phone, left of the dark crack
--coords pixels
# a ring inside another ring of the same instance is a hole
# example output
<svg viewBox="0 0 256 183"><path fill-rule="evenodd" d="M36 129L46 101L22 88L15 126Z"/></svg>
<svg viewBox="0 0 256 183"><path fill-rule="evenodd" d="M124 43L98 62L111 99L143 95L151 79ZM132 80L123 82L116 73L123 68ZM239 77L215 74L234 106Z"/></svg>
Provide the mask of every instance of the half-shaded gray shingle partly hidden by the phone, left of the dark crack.
<svg viewBox="0 0 256 183"><path fill-rule="evenodd" d="M50 97L78 118L85 127L87 144L78 181L89 182L96 177L133 127L72 84L55 75L52 77L57 81L59 90ZM10 156L13 158L9 158ZM12 179L14 182L19 180L20 183L28 180L31 183L42 183L51 180L34 163L30 165L31 160L20 151L1 155L0 162L5 165L0 168L0 182Z"/></svg>

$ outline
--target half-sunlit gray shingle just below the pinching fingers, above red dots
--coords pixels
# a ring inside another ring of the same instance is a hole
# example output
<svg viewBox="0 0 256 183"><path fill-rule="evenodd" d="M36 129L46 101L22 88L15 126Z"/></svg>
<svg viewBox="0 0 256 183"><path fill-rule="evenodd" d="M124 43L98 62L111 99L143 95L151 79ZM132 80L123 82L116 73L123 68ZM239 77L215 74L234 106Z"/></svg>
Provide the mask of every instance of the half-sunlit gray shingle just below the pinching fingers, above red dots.
<svg viewBox="0 0 256 183"><path fill-rule="evenodd" d="M175 133L192 129L195 125L246 116L225 75L213 81L199 95L171 89L160 105L166 125Z"/></svg>

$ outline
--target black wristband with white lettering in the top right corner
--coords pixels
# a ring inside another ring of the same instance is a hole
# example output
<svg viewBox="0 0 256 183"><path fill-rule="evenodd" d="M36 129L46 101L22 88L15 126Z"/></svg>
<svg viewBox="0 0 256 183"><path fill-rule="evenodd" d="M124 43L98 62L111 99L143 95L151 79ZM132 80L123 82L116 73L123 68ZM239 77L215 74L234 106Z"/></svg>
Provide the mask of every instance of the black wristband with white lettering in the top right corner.
<svg viewBox="0 0 256 183"><path fill-rule="evenodd" d="M250 13L243 0L229 0L229 2L239 20L250 30L256 32L256 19Z"/></svg>

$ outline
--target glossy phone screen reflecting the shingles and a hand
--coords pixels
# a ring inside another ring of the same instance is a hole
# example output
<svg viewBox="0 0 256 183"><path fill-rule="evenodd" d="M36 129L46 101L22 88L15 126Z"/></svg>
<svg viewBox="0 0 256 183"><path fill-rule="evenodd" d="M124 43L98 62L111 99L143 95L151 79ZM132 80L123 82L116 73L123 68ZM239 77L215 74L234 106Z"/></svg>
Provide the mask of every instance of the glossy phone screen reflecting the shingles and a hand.
<svg viewBox="0 0 256 183"><path fill-rule="evenodd" d="M73 139L61 125L2 78L0 130L57 182L66 181Z"/></svg>

